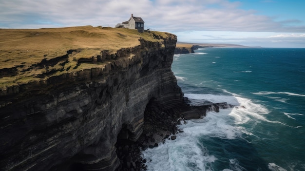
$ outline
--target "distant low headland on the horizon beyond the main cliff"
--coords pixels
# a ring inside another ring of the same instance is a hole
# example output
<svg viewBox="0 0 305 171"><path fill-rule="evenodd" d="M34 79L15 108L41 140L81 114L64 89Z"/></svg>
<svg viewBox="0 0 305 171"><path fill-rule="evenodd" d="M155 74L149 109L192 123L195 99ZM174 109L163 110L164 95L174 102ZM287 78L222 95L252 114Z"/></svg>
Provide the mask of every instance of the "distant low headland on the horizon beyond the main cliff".
<svg viewBox="0 0 305 171"><path fill-rule="evenodd" d="M194 50L198 48L212 48L212 47L235 47L235 48L261 48L244 46L239 44L227 44L227 43L189 43L177 41L175 54L190 54L194 53Z"/></svg>

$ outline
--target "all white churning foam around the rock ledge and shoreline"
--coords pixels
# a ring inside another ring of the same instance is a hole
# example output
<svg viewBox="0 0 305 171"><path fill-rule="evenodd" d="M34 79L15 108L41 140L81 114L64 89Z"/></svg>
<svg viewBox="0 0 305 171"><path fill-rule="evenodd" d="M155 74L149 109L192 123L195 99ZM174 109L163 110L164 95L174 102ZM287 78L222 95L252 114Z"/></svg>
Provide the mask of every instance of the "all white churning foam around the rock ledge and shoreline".
<svg viewBox="0 0 305 171"><path fill-rule="evenodd" d="M224 92L229 93L226 90ZM175 140L166 140L164 144L160 143L156 148L143 151L142 157L147 160L148 171L212 171L213 163L218 159L209 152L205 144L198 143L199 138L244 139L244 134L255 136L250 130L240 125L249 121L259 120L283 124L279 121L268 120L264 115L269 111L264 106L233 93L231 95L185 94L185 96L190 100L228 102L236 107L220 110L219 113L209 112L203 119L188 120L186 124L178 126L184 132L177 134ZM236 159L230 159L229 163L228 169L223 171L245 170ZM269 164L269 169L286 171L274 163Z"/></svg>

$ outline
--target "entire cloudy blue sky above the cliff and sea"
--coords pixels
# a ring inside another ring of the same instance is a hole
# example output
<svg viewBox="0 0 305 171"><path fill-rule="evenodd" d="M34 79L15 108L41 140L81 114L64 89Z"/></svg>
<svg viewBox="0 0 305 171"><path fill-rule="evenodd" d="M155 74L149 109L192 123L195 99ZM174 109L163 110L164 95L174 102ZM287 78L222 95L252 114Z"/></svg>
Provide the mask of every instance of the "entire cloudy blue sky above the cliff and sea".
<svg viewBox="0 0 305 171"><path fill-rule="evenodd" d="M305 48L305 0L0 0L0 28L114 27L131 14L182 42Z"/></svg>

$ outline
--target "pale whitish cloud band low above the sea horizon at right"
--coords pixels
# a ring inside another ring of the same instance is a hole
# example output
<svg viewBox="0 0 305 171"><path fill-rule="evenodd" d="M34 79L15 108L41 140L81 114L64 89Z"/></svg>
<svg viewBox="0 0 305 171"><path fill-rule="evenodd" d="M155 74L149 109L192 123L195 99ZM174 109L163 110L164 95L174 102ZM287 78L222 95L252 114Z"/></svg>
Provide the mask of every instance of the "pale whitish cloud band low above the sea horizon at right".
<svg viewBox="0 0 305 171"><path fill-rule="evenodd" d="M194 31L174 32L178 40L192 43L231 43L262 47L305 48L304 33Z"/></svg>

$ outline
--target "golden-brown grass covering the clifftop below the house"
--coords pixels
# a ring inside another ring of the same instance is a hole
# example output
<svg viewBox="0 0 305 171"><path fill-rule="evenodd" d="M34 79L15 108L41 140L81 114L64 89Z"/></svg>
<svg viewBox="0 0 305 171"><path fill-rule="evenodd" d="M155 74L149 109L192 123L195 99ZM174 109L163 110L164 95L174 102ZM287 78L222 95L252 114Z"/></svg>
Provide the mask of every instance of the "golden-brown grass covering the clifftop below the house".
<svg viewBox="0 0 305 171"><path fill-rule="evenodd" d="M153 32L164 38L166 33ZM0 89L38 81L38 75L50 70L54 75L75 72L86 68L103 67L103 63L82 63L75 68L79 58L91 58L109 50L114 54L121 48L130 48L140 44L139 39L155 39L151 32L139 33L137 30L109 27L67 27L48 29L0 29ZM67 51L76 50L67 61L53 66L33 67L41 61L52 60L67 55ZM3 74L4 70L13 71L12 76Z"/></svg>

